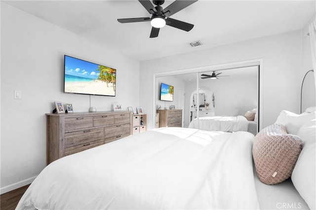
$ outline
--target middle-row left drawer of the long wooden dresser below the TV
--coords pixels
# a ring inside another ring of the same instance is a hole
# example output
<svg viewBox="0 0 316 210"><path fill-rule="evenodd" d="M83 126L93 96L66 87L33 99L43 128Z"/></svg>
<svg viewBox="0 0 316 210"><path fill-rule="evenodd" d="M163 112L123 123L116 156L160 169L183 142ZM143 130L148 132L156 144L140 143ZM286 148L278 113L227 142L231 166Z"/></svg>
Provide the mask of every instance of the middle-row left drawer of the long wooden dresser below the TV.
<svg viewBox="0 0 316 210"><path fill-rule="evenodd" d="M96 140L104 140L103 127L65 133L65 148L89 143Z"/></svg>

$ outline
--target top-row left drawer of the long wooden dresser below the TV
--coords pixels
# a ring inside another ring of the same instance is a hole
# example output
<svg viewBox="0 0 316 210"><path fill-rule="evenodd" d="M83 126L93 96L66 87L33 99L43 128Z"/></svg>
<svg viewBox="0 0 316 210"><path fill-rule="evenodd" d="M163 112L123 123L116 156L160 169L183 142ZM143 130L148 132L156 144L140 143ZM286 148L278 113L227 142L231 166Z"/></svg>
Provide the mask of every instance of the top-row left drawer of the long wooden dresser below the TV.
<svg viewBox="0 0 316 210"><path fill-rule="evenodd" d="M76 118L65 118L65 130L75 130L81 128L88 128L93 126L93 118L89 117L76 117Z"/></svg>

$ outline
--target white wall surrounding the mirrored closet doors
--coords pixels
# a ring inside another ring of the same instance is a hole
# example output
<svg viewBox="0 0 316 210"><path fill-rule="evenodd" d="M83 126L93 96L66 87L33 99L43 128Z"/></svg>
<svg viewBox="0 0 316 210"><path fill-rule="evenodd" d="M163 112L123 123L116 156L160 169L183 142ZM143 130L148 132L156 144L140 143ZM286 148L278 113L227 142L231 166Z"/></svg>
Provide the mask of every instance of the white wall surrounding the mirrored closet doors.
<svg viewBox="0 0 316 210"><path fill-rule="evenodd" d="M153 112L152 78L159 72L170 72L198 66L263 59L261 66L263 85L263 127L276 121L281 110L298 113L300 110L300 74L302 64L301 30L217 46L209 49L147 60L140 64L140 77L144 81L140 103ZM216 107L215 107L216 108ZM147 116L152 122L152 115ZM148 125L151 128L151 124ZM153 126L153 125L152 125Z"/></svg>

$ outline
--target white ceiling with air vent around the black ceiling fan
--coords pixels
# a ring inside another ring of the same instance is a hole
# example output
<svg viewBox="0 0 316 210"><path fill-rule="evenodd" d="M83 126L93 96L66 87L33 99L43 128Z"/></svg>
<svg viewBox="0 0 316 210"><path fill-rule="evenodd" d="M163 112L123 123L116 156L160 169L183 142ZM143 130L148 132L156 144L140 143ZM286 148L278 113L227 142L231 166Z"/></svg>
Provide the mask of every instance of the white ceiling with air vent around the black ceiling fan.
<svg viewBox="0 0 316 210"><path fill-rule="evenodd" d="M316 0L199 0L171 16L194 24L191 31L165 26L157 38L149 38L150 22L117 21L150 17L137 0L2 1L135 60L301 30L316 11ZM197 40L203 45L192 48L189 43Z"/></svg>

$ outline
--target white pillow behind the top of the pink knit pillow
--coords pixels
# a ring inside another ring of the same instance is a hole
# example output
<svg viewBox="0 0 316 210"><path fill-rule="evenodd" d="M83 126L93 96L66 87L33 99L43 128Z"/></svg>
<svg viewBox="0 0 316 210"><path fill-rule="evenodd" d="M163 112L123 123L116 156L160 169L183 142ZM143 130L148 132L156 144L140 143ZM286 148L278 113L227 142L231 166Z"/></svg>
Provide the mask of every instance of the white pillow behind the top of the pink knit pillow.
<svg viewBox="0 0 316 210"><path fill-rule="evenodd" d="M298 115L290 111L282 110L277 117L275 124L282 124L285 126L287 133L297 135L301 126L305 122L314 119L315 116L315 112Z"/></svg>

